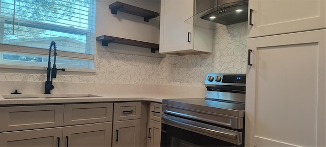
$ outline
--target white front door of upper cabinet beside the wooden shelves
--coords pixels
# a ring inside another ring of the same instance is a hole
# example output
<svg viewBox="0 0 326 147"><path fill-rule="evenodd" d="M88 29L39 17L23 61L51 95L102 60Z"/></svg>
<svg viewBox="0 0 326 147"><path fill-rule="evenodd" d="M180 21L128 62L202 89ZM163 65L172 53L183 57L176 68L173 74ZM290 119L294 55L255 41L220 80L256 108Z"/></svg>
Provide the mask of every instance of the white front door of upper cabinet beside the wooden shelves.
<svg viewBox="0 0 326 147"><path fill-rule="evenodd" d="M194 0L162 0L159 53L193 50L193 24L184 21L194 14Z"/></svg>

